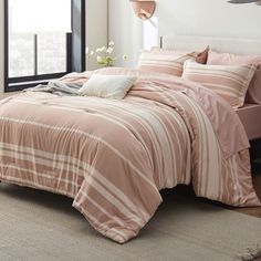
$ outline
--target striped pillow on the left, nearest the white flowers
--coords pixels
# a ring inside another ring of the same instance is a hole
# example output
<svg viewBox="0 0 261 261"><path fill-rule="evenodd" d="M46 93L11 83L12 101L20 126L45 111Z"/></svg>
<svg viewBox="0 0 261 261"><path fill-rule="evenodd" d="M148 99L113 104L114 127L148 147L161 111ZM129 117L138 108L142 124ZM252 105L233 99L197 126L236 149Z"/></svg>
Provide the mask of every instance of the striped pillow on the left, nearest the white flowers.
<svg viewBox="0 0 261 261"><path fill-rule="evenodd" d="M143 71L167 73L176 76L182 75L184 63L195 59L192 53L182 52L146 52L144 51L138 61L138 69Z"/></svg>

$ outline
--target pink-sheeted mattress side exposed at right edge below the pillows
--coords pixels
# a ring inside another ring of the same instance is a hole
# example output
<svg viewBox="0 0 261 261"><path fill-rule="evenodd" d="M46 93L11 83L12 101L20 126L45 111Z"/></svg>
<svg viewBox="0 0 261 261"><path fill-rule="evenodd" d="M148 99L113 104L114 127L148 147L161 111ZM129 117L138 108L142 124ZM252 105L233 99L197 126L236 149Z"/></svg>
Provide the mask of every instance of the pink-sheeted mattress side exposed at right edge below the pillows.
<svg viewBox="0 0 261 261"><path fill-rule="evenodd" d="M261 138L261 105L244 104L237 111L249 140Z"/></svg>

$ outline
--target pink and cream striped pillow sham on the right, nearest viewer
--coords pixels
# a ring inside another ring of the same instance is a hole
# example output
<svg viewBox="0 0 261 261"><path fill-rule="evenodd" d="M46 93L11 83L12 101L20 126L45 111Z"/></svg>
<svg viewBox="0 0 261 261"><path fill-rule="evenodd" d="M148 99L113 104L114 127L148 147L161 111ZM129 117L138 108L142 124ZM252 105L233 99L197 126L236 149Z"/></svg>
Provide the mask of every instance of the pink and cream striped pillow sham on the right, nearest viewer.
<svg viewBox="0 0 261 261"><path fill-rule="evenodd" d="M238 108L244 103L254 72L254 65L202 65L187 61L182 77L201 83Z"/></svg>

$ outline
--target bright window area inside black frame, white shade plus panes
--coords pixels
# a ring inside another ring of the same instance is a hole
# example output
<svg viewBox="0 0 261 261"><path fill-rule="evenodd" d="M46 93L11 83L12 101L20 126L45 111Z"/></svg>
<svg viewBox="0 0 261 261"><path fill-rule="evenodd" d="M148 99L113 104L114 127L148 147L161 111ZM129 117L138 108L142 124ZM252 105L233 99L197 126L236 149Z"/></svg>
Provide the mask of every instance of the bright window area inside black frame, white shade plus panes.
<svg viewBox="0 0 261 261"><path fill-rule="evenodd" d="M71 0L9 0L8 3L9 77L66 72ZM38 53L34 35L38 35Z"/></svg>

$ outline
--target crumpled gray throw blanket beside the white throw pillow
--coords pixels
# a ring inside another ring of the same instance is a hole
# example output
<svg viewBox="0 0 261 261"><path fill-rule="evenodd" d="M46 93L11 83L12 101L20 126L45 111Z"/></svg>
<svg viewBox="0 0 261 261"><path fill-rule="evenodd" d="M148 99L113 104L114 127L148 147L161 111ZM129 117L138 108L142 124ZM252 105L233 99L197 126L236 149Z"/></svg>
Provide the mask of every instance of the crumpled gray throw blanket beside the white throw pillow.
<svg viewBox="0 0 261 261"><path fill-rule="evenodd" d="M53 93L60 96L76 96L79 95L79 90L82 87L81 84L76 83L65 83L62 81L51 81L46 85L39 84L35 87L27 88L25 92L45 92Z"/></svg>

